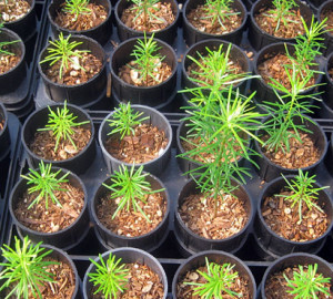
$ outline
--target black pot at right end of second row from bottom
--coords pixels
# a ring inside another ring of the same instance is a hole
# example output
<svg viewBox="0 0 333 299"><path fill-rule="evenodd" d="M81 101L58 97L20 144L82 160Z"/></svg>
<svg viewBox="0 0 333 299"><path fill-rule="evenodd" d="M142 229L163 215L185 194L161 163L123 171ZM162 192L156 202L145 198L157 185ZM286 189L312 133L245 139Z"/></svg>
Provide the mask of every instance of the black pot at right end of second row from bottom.
<svg viewBox="0 0 333 299"><path fill-rule="evenodd" d="M294 178L294 175L287 175L285 178L291 182ZM255 239L260 246L260 248L269 255L269 257L280 257L291 252L309 252L309 254L317 254L319 250L324 245L327 235L332 230L333 221L333 204L329 194L322 189L319 192L316 204L327 214L329 224L326 231L316 239L309 241L293 241L286 238L279 236L275 231L273 231L264 217L262 216L261 208L263 202L266 197L273 196L275 194L280 194L281 190L287 186L286 182L283 177L278 177L270 182L261 193L260 200L258 202L258 213L255 216L254 223L254 234ZM319 184L314 184L314 188L321 187Z"/></svg>

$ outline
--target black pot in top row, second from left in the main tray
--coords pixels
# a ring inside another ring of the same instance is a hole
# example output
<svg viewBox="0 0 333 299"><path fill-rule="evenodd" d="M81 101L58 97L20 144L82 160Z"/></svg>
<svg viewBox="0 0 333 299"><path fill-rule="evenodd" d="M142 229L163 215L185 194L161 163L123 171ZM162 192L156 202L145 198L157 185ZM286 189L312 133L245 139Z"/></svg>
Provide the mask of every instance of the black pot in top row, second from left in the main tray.
<svg viewBox="0 0 333 299"><path fill-rule="evenodd" d="M163 3L171 3L172 12L174 14L174 21L172 24L167 27L165 29L162 29L160 31L154 32L154 38L162 40L167 42L168 44L172 44L175 37L176 37L176 31L178 31L178 22L179 22L179 8L178 8L178 2L174 0L163 0ZM139 38L143 37L143 31L138 31L133 30L129 27L127 27L122 21L122 12L129 8L132 4L132 1L128 0L120 0L117 2L115 8L114 8L114 17L115 17L115 24L118 28L118 35L120 41L127 41L131 38ZM151 37L153 32L145 32L147 37Z"/></svg>

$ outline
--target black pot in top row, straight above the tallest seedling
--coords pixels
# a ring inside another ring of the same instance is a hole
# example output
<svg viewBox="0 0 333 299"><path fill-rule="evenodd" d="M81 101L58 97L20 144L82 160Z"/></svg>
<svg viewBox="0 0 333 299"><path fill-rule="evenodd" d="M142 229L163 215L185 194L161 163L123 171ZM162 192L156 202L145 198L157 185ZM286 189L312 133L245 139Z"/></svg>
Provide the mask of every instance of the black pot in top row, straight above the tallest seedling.
<svg viewBox="0 0 333 299"><path fill-rule="evenodd" d="M203 6L205 0L188 0L183 7L183 37L188 45L192 45L199 41L208 39L221 39L234 44L240 45L243 37L243 32L246 30L246 20L248 13L246 8L240 0L234 0L230 3L230 8L240 12L242 18L241 25L229 33L225 34L211 34L198 30L191 22L188 20L188 14L193 9L196 9L199 6Z"/></svg>

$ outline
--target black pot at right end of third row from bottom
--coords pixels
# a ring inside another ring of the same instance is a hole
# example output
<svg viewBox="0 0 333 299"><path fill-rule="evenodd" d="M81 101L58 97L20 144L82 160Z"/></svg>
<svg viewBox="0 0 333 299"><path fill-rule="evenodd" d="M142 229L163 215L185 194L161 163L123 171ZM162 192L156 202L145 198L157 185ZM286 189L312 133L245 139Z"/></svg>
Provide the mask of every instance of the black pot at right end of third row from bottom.
<svg viewBox="0 0 333 299"><path fill-rule="evenodd" d="M271 116L269 116L269 117L271 117ZM268 117L263 120L263 123L266 122L266 120L268 120ZM300 117L295 117L294 123L301 124ZM326 155L329 145L327 145L327 140L326 140L324 131L315 121L312 120L312 122L310 122L310 121L305 120L304 125L305 125L306 130L310 130L312 132L311 134L310 133L307 133L307 134L313 140L314 145L320 151L319 161L316 163L314 163L313 165L302 168L303 172L307 172L309 174L312 175L312 174L314 174L314 172L316 171L319 165L323 162L323 158ZM264 131L261 128L261 130L256 131L255 135L262 136L262 135L264 135ZM256 153L259 153L259 155L253 156L254 162L259 165L259 168L255 168L255 169L256 169L259 176L262 179L264 179L265 182L270 182L276 177L280 177L281 174L283 174L283 175L294 174L295 175L299 173L297 168L281 167L280 165L271 162L263 153L262 147L260 146L258 141L254 142L254 150L256 151Z"/></svg>

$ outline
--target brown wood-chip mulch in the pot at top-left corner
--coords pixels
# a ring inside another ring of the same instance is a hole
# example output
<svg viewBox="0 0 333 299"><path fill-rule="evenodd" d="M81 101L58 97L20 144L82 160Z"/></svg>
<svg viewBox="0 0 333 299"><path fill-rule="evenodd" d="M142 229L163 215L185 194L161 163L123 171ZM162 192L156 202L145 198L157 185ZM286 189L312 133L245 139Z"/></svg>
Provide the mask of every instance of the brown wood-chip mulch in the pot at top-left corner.
<svg viewBox="0 0 333 299"><path fill-rule="evenodd" d="M6 2L8 2L6 4ZM0 1L0 22L13 22L27 14L30 10L28 1Z"/></svg>

